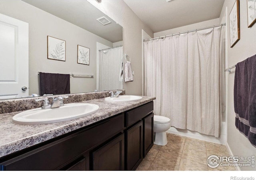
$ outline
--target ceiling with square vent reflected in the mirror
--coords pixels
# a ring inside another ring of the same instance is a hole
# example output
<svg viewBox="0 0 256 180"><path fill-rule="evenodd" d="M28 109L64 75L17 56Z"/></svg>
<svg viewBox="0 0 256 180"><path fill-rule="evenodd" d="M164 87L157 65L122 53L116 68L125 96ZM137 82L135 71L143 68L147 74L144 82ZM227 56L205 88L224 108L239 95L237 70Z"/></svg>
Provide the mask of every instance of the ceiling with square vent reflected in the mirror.
<svg viewBox="0 0 256 180"><path fill-rule="evenodd" d="M22 0L54 16L88 30L110 42L123 39L123 28L86 0ZM35 14L36 16L36 14ZM105 16L112 23L102 25L96 19ZM47 22L45 22L47 23Z"/></svg>

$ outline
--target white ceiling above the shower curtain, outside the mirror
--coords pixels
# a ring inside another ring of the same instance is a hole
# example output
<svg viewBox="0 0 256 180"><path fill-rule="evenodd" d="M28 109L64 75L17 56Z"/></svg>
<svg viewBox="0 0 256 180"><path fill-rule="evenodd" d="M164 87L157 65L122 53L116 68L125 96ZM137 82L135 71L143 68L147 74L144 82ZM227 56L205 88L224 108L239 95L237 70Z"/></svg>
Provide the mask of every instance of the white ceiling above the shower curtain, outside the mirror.
<svg viewBox="0 0 256 180"><path fill-rule="evenodd" d="M153 32L220 17L224 0L124 0Z"/></svg>

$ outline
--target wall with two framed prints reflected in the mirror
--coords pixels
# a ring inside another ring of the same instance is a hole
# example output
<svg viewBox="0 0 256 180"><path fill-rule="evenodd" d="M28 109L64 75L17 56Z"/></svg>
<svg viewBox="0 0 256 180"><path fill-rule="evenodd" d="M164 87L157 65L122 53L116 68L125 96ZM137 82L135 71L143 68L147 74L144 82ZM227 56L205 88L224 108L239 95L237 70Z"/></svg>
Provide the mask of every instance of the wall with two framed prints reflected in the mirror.
<svg viewBox="0 0 256 180"><path fill-rule="evenodd" d="M96 89L96 42L109 42L70 22L21 0L1 0L0 13L29 24L29 94L39 93L38 71L61 74L93 74L94 78L70 78L70 92ZM47 59L47 36L66 40L66 61ZM77 45L90 48L90 65L77 64Z"/></svg>

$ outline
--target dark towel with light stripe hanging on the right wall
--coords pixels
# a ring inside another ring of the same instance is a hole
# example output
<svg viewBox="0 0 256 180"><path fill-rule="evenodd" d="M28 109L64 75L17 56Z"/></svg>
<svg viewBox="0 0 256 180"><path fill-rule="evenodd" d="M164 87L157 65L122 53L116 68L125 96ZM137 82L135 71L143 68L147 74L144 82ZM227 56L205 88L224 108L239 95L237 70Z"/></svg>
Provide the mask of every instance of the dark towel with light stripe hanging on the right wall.
<svg viewBox="0 0 256 180"><path fill-rule="evenodd" d="M236 128L256 147L256 55L236 64L234 108Z"/></svg>

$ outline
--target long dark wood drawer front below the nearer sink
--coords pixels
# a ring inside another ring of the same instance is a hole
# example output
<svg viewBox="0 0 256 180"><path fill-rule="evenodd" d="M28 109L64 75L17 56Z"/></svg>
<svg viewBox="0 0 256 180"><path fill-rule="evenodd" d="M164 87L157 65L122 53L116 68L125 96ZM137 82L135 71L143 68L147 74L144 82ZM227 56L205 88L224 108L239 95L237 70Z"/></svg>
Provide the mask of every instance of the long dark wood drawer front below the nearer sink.
<svg viewBox="0 0 256 180"><path fill-rule="evenodd" d="M121 132L123 114L0 163L3 170L58 170L76 156Z"/></svg>

